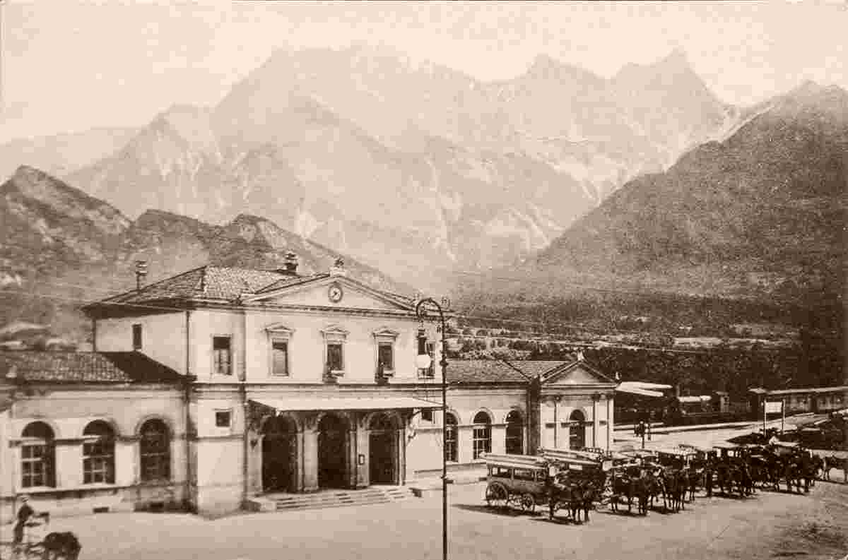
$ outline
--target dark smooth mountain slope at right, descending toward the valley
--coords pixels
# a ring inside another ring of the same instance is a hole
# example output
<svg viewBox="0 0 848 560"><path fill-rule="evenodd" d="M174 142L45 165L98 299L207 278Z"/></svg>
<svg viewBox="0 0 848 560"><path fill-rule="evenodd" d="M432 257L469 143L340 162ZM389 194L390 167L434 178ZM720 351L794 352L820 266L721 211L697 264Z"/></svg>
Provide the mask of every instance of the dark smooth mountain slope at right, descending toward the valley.
<svg viewBox="0 0 848 560"><path fill-rule="evenodd" d="M846 193L848 93L806 83L727 140L623 186L527 271L695 294L841 297Z"/></svg>

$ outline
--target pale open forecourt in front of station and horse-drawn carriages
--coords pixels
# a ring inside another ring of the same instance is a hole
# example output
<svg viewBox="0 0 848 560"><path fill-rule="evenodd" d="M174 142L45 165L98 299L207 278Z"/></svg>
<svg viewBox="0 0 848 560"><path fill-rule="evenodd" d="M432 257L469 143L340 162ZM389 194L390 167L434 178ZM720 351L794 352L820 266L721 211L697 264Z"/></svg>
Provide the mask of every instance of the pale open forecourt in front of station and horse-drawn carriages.
<svg viewBox="0 0 848 560"><path fill-rule="evenodd" d="M483 484L450 489L450 557L805 558L848 549L848 485L818 483L809 496L759 492L745 500L699 498L681 513L647 517L593 512L589 524L551 522L485 507ZM437 560L438 496L362 507L243 514L206 520L184 514L111 513L57 518L83 543L80 560ZM3 527L8 536L9 526ZM841 548L840 548L841 547ZM844 555L844 553L843 553Z"/></svg>

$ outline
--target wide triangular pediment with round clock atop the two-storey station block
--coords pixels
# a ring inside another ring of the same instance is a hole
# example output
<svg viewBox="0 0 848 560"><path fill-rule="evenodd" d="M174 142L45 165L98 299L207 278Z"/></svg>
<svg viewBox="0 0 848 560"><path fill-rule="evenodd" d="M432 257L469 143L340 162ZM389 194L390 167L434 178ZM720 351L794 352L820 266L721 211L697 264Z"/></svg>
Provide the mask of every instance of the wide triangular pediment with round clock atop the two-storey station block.
<svg viewBox="0 0 848 560"><path fill-rule="evenodd" d="M412 311L399 297L375 290L369 286L346 278L331 276L305 282L297 286L282 287L257 294L245 302L265 305L292 305L326 308L377 309L389 311Z"/></svg>

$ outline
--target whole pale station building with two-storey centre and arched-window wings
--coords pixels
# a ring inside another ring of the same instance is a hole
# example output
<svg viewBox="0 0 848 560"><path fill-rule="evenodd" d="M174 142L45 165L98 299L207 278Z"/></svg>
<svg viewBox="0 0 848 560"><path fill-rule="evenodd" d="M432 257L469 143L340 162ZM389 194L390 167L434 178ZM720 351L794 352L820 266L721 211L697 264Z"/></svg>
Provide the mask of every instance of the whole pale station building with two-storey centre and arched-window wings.
<svg viewBox="0 0 848 560"><path fill-rule="evenodd" d="M449 360L415 302L329 272L204 266L86 306L94 352L0 352L0 493L36 509L227 513L255 496L404 485L483 452L611 445L610 380ZM416 368L419 338L433 366ZM8 517L7 517L8 518Z"/></svg>

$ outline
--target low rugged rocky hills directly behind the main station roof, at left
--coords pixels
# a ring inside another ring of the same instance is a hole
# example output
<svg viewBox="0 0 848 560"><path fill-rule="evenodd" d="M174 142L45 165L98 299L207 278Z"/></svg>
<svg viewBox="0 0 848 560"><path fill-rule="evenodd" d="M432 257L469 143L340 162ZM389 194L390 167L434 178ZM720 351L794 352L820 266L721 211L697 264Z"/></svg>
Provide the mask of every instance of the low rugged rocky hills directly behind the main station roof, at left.
<svg viewBox="0 0 848 560"><path fill-rule="evenodd" d="M306 274L326 271L343 258L351 274L372 286L412 291L268 219L243 214L226 225L209 225L148 210L130 220L107 202L26 166L0 185L0 236L0 324L51 324L77 341L87 326L75 308L132 289L137 259L148 261L153 281L208 263L274 269L293 251Z"/></svg>

